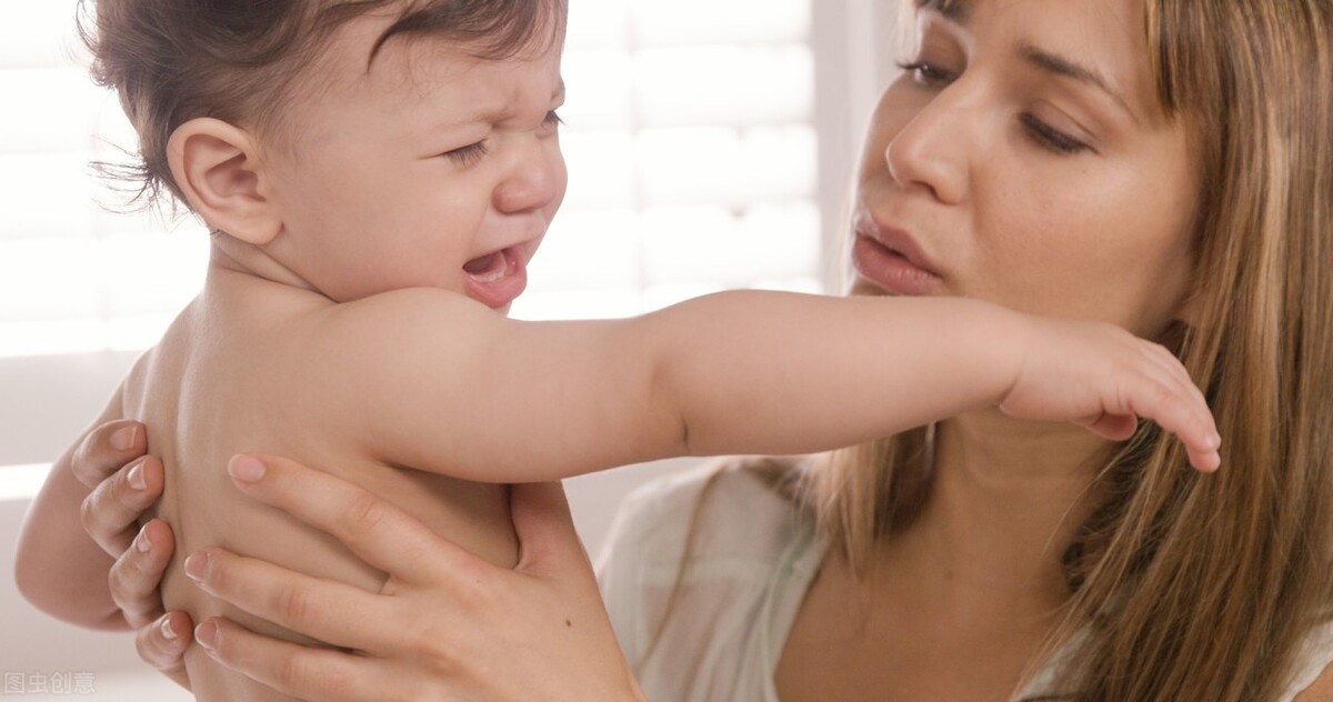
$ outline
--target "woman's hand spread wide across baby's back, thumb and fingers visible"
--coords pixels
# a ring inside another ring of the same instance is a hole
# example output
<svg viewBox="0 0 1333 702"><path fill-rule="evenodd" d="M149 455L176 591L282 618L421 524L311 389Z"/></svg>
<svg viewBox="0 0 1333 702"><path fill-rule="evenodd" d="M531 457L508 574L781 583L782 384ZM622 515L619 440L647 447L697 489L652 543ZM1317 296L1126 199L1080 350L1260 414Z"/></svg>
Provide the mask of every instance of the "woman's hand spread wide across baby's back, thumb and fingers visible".
<svg viewBox="0 0 1333 702"><path fill-rule="evenodd" d="M185 570L207 593L349 649L303 647L219 618L195 631L223 665L308 699L643 699L611 630L559 484L512 489L520 559L504 569L365 490L271 456L239 456L237 488L389 574L380 593L221 549Z"/></svg>

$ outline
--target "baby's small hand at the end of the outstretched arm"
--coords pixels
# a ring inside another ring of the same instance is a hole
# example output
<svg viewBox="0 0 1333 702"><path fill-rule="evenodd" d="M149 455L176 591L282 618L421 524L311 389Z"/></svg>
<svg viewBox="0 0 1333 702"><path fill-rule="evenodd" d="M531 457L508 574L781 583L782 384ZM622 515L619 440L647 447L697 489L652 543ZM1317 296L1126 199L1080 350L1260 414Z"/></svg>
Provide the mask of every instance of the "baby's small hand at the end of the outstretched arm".
<svg viewBox="0 0 1333 702"><path fill-rule="evenodd" d="M1022 364L1000 402L1005 414L1070 421L1116 441L1133 436L1137 417L1149 418L1180 437L1194 468L1217 470L1213 416L1169 350L1110 324L1029 322Z"/></svg>

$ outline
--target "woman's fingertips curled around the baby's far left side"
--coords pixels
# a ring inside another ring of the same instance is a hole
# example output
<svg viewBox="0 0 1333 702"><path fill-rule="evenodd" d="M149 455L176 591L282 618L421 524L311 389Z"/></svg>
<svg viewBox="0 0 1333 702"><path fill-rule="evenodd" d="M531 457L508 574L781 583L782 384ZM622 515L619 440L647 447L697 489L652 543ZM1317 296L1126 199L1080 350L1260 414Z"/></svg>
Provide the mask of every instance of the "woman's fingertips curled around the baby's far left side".
<svg viewBox="0 0 1333 702"><path fill-rule="evenodd" d="M139 657L188 689L181 655L191 642L189 615L163 613L159 591L175 538L160 520L139 527L139 518L163 490L163 464L144 456L147 445L144 425L107 422L84 437L69 469L92 490L83 502L83 526L116 559L111 595L125 622L137 630Z"/></svg>

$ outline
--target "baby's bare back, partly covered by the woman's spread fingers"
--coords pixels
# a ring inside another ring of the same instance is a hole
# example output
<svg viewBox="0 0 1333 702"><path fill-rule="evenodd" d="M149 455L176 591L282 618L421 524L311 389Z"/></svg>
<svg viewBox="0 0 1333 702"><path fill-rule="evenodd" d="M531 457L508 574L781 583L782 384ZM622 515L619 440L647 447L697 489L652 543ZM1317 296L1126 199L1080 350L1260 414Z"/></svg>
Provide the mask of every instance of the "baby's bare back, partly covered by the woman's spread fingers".
<svg viewBox="0 0 1333 702"><path fill-rule="evenodd" d="M503 486L376 461L355 441L329 430L345 425L347 413L361 408L312 401L316 393L293 382L299 374L291 364L321 353L319 320L329 306L313 293L215 269L204 293L127 378L124 416L149 428L148 448L167 469L159 514L176 533L176 558L163 579L167 609L185 609L195 622L225 615L256 631L303 641L195 587L181 563L205 546L369 591L384 582L381 573L328 535L236 490L227 461L240 452L285 456L341 476L387 497L451 541L493 562L515 562ZM337 421L331 421L335 416ZM199 699L288 699L213 663L197 647L185 658Z"/></svg>

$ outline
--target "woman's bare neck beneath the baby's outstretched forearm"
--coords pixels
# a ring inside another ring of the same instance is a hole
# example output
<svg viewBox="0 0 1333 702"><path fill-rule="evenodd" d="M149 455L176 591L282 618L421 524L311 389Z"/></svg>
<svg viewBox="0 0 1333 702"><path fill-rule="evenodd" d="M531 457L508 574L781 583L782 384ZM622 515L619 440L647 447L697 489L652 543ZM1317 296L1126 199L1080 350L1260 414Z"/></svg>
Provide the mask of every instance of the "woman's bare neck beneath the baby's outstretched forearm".
<svg viewBox="0 0 1333 702"><path fill-rule="evenodd" d="M930 493L884 555L948 597L958 614L1042 611L1068 597L1061 557L1096 505L1106 442L1072 425L997 410L941 422Z"/></svg>

